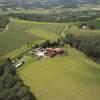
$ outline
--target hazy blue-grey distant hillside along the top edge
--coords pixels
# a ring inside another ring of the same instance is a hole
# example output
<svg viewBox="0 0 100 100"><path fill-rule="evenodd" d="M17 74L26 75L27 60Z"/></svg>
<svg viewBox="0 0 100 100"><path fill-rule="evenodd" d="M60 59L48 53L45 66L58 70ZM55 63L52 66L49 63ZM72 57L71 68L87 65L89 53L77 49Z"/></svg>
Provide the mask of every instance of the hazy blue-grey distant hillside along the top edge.
<svg viewBox="0 0 100 100"><path fill-rule="evenodd" d="M49 4L48 4L49 3ZM44 7L44 6L52 6L52 5L77 5L80 3L89 3L89 4L97 4L100 3L100 0L0 0L0 8L2 7Z"/></svg>

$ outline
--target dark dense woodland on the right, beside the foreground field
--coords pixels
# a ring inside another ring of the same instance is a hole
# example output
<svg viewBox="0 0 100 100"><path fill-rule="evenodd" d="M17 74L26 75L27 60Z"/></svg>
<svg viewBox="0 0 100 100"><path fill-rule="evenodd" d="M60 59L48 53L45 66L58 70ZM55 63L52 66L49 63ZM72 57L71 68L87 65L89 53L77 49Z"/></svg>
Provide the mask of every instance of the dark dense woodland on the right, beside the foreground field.
<svg viewBox="0 0 100 100"><path fill-rule="evenodd" d="M99 36L74 36L67 34L64 43L70 44L84 52L95 61L100 61L100 37ZM99 62L100 63L100 62Z"/></svg>

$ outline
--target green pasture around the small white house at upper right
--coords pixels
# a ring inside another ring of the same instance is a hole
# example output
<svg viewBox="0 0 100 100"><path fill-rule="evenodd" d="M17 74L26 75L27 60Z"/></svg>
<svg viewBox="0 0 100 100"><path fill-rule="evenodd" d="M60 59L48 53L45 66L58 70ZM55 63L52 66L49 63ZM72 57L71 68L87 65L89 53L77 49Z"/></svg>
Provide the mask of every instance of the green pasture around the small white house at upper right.
<svg viewBox="0 0 100 100"><path fill-rule="evenodd" d="M81 29L79 28L79 24L81 23L87 23L94 25L97 29L90 30L90 29ZM66 29L64 32L64 35L66 34L74 34L76 36L80 35L85 35L85 36L99 36L100 35L100 18L92 20L92 21L83 21L83 22L73 22L73 23L68 23L70 26L69 28Z"/></svg>

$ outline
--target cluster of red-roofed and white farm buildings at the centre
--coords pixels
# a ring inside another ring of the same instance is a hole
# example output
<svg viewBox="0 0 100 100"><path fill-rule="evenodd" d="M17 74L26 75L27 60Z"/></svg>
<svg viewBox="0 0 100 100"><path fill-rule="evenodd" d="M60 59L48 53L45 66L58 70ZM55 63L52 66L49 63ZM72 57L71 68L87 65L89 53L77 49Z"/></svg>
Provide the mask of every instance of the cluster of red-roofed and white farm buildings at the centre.
<svg viewBox="0 0 100 100"><path fill-rule="evenodd" d="M65 55L66 51L63 48L37 48L33 50L33 55L38 57L53 58L57 55Z"/></svg>

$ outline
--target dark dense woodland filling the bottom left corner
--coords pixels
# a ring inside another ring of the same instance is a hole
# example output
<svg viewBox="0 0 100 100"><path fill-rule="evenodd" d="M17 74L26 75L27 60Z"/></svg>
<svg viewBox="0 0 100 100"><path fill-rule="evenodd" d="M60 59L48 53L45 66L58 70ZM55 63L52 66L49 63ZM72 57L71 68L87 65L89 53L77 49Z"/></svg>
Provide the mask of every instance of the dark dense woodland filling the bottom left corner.
<svg viewBox="0 0 100 100"><path fill-rule="evenodd" d="M9 58L0 65L0 100L36 100Z"/></svg>

